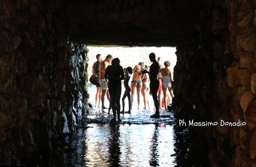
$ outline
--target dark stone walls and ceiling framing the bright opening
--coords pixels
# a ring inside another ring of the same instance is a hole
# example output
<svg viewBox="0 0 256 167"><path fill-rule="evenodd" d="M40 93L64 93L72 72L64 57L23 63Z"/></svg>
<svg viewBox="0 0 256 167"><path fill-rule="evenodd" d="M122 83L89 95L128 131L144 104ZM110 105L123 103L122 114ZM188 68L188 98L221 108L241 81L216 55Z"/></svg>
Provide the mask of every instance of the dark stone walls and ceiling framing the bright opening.
<svg viewBox="0 0 256 167"><path fill-rule="evenodd" d="M255 5L1 1L0 164L35 164L61 145L86 112L81 43L118 43L177 47L177 119L246 121L191 127L194 164L255 165Z"/></svg>

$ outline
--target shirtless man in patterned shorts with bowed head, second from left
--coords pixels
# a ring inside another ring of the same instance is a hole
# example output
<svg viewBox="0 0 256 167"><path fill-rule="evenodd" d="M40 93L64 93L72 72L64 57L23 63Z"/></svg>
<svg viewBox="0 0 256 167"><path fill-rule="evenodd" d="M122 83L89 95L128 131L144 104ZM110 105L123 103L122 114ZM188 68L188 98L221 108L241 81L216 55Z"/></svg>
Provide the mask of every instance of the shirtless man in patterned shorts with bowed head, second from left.
<svg viewBox="0 0 256 167"><path fill-rule="evenodd" d="M100 87L102 89L102 93L101 93L101 103L102 103L101 108L102 109L106 109L106 106L104 105L106 94L107 94L107 98L109 100L108 80L106 80L106 78L104 78L104 76L105 76L106 68L109 66L112 59L113 59L112 55L107 55L106 59L104 61L100 62L99 83L100 83Z"/></svg>

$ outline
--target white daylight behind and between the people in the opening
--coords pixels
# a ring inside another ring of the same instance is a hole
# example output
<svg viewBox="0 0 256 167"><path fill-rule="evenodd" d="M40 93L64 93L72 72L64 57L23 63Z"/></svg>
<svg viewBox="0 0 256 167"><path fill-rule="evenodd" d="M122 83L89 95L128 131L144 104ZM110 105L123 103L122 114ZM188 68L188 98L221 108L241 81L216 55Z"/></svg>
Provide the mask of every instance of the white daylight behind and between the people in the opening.
<svg viewBox="0 0 256 167"><path fill-rule="evenodd" d="M148 58L148 55L151 52L154 52L156 54L156 59L158 57L161 57L161 61L159 62L164 67L164 61L170 61L170 69L172 71L172 78L173 78L173 68L176 64L177 57L175 55L176 48L175 47L123 47L123 46L88 46L88 56L89 56L89 62L88 62L88 76L92 76L92 66L96 59L96 55L100 54L102 61L106 58L106 55L111 54L113 58L118 57L120 59L120 65L123 68L127 68L130 66L132 69L134 69L134 66L136 66L139 62L144 62L145 65L150 66L152 62L150 62L150 59ZM132 76L131 76L132 78ZM131 86L131 78L129 80L129 85ZM121 110L122 110L122 96L124 94L125 88L124 84L122 85L122 95L120 99L121 104ZM92 104L93 107L99 108L101 107L99 104L95 104L95 94L97 92L97 88L95 85L89 82L88 92L90 94L89 103ZM168 91L167 91L168 92ZM163 95L161 95L163 98ZM149 110L153 112L154 110L154 102L152 99L152 96L148 95L148 101L149 101ZM172 98L170 97L170 92L168 92L168 103L172 102ZM105 106L109 107L109 101L106 98L105 100ZM162 101L161 107L164 108L164 103ZM145 104L143 103L143 95L140 93L140 106L138 106L138 96L137 93L134 93L134 102L132 104L132 110L145 110ZM128 110L128 99L125 98L125 111ZM131 112L132 114L132 112ZM134 113L135 114L135 113Z"/></svg>

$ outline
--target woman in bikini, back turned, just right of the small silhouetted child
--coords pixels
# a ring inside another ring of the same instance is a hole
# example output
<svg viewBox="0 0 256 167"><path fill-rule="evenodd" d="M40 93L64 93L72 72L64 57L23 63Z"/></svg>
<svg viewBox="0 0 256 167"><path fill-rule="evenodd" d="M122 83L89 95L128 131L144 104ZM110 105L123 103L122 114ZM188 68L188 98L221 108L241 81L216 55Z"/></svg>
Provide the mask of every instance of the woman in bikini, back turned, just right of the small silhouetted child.
<svg viewBox="0 0 256 167"><path fill-rule="evenodd" d="M131 81L131 89L132 89L131 106L134 101L134 93L135 93L135 89L136 89L137 96L138 96L138 110L140 109L140 92L141 92L141 87L142 87L141 75L142 75L141 66L136 65L133 70L133 76L132 76L132 81Z"/></svg>

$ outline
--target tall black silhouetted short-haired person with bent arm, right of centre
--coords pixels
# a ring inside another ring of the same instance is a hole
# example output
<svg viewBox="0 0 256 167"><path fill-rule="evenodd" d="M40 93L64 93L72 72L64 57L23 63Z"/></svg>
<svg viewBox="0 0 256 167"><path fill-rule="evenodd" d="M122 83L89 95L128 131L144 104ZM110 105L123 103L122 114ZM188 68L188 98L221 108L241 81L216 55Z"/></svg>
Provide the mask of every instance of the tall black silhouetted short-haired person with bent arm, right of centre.
<svg viewBox="0 0 256 167"><path fill-rule="evenodd" d="M150 66L149 72L147 70L143 70L142 73L148 73L149 74L149 78L150 78L150 93L152 94L153 100L154 100L154 104L155 104L155 108L156 108L156 113L154 113L153 115L151 115L150 117L152 118L159 118L160 114L159 114L159 101L157 99L157 91L158 91L158 87L159 87L159 80L157 79L157 75L159 72L159 64L156 61L156 55L154 53L149 54L149 59L151 62L153 62Z"/></svg>

